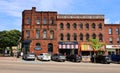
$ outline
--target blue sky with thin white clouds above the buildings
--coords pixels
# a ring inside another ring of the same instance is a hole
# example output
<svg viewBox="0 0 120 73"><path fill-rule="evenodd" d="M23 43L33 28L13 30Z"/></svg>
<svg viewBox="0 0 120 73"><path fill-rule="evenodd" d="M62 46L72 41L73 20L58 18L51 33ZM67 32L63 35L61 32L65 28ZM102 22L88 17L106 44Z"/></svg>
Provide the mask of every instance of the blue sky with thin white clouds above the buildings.
<svg viewBox="0 0 120 73"><path fill-rule="evenodd" d="M21 31L22 11L32 7L58 14L103 14L105 24L120 23L120 0L0 0L0 31Z"/></svg>

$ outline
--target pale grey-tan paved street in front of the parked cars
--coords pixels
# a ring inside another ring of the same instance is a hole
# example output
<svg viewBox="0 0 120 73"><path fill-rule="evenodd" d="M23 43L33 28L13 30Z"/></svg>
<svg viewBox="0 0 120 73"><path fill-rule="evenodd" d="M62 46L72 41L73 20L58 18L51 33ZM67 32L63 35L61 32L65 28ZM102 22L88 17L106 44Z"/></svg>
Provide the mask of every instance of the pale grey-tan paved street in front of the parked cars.
<svg viewBox="0 0 120 73"><path fill-rule="evenodd" d="M120 64L0 60L0 73L120 73L119 69Z"/></svg>

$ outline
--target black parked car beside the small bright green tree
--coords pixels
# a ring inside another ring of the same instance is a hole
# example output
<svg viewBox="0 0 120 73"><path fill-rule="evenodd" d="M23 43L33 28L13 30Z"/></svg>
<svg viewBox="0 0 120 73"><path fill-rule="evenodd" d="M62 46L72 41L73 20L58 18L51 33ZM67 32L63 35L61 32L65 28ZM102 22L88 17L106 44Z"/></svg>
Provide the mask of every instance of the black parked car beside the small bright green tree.
<svg viewBox="0 0 120 73"><path fill-rule="evenodd" d="M105 55L96 55L94 57L91 57L91 62L110 64L111 58L109 56L105 56Z"/></svg>

